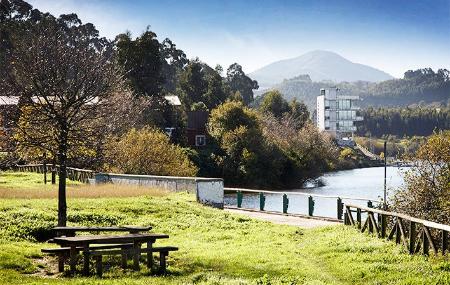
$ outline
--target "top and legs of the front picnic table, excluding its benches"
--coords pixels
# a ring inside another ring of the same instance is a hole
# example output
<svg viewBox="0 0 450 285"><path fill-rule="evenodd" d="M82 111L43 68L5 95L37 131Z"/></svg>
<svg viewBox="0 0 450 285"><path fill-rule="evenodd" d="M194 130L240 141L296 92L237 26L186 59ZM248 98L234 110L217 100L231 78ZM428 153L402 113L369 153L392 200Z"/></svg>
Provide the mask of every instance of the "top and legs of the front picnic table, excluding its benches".
<svg viewBox="0 0 450 285"><path fill-rule="evenodd" d="M89 275L89 257L90 245L92 244L132 244L131 254L133 255L134 270L139 270L139 256L141 246L147 243L147 266L152 266L152 247L157 239L169 238L166 234L125 234L125 235L95 235L95 236L77 236L77 237L56 237L54 242L61 247L70 247L70 271L75 273L78 249L82 247L83 251L83 274Z"/></svg>

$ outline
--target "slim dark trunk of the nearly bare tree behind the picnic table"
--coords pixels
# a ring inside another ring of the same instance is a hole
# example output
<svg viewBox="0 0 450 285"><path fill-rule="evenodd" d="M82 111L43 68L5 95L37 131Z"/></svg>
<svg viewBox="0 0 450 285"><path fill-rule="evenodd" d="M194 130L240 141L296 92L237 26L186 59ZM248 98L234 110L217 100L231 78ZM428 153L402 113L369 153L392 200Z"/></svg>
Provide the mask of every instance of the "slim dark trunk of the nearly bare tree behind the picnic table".
<svg viewBox="0 0 450 285"><path fill-rule="evenodd" d="M66 177L67 177L67 132L61 130L59 143L58 226L67 223Z"/></svg>

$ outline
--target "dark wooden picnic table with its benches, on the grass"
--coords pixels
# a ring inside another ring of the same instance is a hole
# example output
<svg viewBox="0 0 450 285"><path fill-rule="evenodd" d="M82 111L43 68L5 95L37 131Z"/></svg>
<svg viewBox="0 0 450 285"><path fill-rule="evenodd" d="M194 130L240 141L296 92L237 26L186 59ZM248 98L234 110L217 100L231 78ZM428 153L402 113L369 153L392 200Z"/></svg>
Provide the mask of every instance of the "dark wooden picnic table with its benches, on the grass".
<svg viewBox="0 0 450 285"><path fill-rule="evenodd" d="M60 245L61 247L69 247L69 258L70 258L70 272L73 274L76 270L77 257L78 252L81 251L83 253L83 275L89 275L89 259L90 256L96 256L97 260L97 274L101 275L102 271L102 255L114 255L114 254L122 254L123 256L126 254L131 254L133 256L133 269L139 270L139 257L141 253L147 253L147 266L151 269L153 263L152 253L153 244L157 239L166 239L169 238L166 234L156 234L156 233L137 233L137 234L124 234L124 235L94 235L94 236L76 236L76 237L56 237L53 239L53 242ZM141 248L142 244L146 243L147 248ZM95 247L91 247L91 245L98 244L115 244L112 246L113 250L105 250L96 249ZM123 248L123 246L130 245L130 248ZM120 249L117 249L120 248ZM160 259L161 265L165 267L165 257L168 254L168 251L177 250L175 247L165 247L164 250L158 249L161 256L163 257L163 261ZM163 253L164 251L164 253ZM125 259L126 262L126 259ZM164 268L165 270L165 268Z"/></svg>

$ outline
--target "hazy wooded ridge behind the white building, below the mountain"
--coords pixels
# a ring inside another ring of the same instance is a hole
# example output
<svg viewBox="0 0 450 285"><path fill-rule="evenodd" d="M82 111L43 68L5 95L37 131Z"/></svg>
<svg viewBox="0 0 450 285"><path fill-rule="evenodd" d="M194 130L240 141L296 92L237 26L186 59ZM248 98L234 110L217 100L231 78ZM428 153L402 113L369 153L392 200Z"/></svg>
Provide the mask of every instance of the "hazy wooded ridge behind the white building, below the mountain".
<svg viewBox="0 0 450 285"><path fill-rule="evenodd" d="M431 68L409 70L402 79L374 82L313 82L308 75L284 80L272 89L279 90L286 99L304 101L309 110L316 108L321 88L338 87L343 94L358 95L362 107L407 107L420 105L448 106L450 103L450 72Z"/></svg>

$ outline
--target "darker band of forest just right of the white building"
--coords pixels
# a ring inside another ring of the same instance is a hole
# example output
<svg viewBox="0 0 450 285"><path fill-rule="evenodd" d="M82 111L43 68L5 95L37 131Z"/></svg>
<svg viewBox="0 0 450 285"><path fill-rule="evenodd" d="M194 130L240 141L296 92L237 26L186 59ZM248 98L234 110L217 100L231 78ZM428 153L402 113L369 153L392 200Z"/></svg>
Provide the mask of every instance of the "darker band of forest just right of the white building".
<svg viewBox="0 0 450 285"><path fill-rule="evenodd" d="M372 108L361 111L357 134L429 136L434 131L450 129L450 108Z"/></svg>

